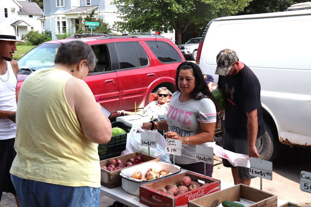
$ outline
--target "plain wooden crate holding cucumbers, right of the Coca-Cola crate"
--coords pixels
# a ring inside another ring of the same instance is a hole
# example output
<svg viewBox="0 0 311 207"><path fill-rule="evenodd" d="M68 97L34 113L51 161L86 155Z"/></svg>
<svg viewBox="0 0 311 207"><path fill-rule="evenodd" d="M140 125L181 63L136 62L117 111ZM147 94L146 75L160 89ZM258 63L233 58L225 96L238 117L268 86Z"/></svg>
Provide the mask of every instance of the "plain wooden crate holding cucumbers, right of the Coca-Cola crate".
<svg viewBox="0 0 311 207"><path fill-rule="evenodd" d="M239 184L215 193L211 193L201 198L191 200L188 203L188 207L216 207L224 200L239 201L240 198L256 202L252 205L249 205L248 207L277 206L276 195L243 184Z"/></svg>

